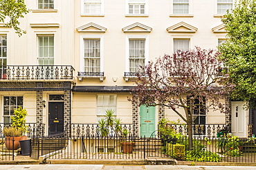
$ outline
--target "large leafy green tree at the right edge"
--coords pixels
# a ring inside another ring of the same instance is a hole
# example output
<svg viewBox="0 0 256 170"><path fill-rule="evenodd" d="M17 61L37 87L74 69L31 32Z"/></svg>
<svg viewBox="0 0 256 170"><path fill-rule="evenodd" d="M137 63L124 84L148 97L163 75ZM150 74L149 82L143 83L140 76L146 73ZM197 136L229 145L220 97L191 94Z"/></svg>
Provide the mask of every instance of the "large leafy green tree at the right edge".
<svg viewBox="0 0 256 170"><path fill-rule="evenodd" d="M228 32L219 46L221 59L236 86L232 98L256 107L256 0L238 0L221 21Z"/></svg>

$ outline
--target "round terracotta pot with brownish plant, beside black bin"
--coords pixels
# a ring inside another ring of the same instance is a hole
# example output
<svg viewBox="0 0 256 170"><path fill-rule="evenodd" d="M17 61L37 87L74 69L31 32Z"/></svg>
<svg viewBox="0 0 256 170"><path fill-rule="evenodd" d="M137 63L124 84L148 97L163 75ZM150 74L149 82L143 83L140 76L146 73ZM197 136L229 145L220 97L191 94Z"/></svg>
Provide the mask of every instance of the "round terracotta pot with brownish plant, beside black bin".
<svg viewBox="0 0 256 170"><path fill-rule="evenodd" d="M6 148L8 150L16 150L20 147L21 129L16 127L4 127L3 135L6 136Z"/></svg>

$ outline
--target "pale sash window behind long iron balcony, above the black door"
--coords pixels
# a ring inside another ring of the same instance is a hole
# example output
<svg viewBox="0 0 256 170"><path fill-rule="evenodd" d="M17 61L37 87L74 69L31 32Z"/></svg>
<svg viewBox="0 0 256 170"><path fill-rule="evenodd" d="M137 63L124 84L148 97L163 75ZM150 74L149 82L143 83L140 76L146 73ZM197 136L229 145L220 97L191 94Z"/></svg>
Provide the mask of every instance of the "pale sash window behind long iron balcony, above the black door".
<svg viewBox="0 0 256 170"><path fill-rule="evenodd" d="M39 65L54 65L54 36L38 36Z"/></svg>

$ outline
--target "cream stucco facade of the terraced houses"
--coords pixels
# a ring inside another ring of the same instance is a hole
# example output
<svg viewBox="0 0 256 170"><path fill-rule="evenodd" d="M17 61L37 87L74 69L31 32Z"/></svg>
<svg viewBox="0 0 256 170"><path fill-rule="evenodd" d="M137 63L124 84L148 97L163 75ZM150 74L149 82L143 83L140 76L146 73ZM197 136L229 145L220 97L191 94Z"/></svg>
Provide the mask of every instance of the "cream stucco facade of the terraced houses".
<svg viewBox="0 0 256 170"><path fill-rule="evenodd" d="M46 134L49 133L49 112L53 103L64 103L62 128L68 130L65 126L71 123L97 123L99 108L105 108L104 102L107 101L123 123L136 124L136 133L140 135L140 109L127 100L127 96L131 96L128 89L135 85L131 81L134 76L125 76L125 72L131 72L131 41L143 42L143 60L147 63L158 56L172 54L175 40L185 40L189 48L200 46L208 49L217 47L218 41L225 39L226 31L221 23L222 14L218 14L217 0L184 2L185 6L188 5L188 9L184 7L188 12L176 14L176 5L172 0L54 0L51 4L53 8L46 6L42 9L39 9L39 1L26 0L31 11L20 20L20 26L27 33L18 37L11 28L0 27L0 35L7 41L6 65L45 65L40 63L40 57L46 57L44 62L48 61L48 65L68 65L74 70L67 79L2 78L1 122L6 116L4 106L10 108L10 105L4 104L7 100L4 96L23 96L23 107L28 109L27 122L43 123ZM136 10L137 7L139 10ZM53 40L47 40L53 44L40 46L40 37L53 37ZM86 45L92 41L98 46L90 49ZM41 53L40 49L46 48L49 55L52 52L53 59L44 56L46 52ZM87 59L86 50L93 50L98 56ZM86 66L84 61L88 61L89 65ZM86 71L85 67L91 71ZM55 67L53 70L50 72L55 72ZM89 74L84 74L86 72ZM55 100L51 99L51 95L63 96L60 96L61 100ZM111 99L104 96L111 96ZM99 98L103 98L101 102ZM160 116L158 110L157 107L155 129ZM170 120L179 119L170 109L165 108L164 112ZM218 111L210 110L206 117L205 123L208 124L226 123L226 116Z"/></svg>

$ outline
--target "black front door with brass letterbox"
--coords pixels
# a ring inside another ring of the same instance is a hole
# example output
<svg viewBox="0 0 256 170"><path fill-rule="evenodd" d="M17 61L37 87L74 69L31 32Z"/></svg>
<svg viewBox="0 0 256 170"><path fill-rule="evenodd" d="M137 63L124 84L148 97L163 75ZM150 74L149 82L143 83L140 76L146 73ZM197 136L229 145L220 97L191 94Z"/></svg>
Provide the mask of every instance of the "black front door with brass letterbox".
<svg viewBox="0 0 256 170"><path fill-rule="evenodd" d="M64 103L49 102L49 135L61 134L64 131Z"/></svg>

